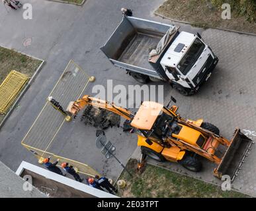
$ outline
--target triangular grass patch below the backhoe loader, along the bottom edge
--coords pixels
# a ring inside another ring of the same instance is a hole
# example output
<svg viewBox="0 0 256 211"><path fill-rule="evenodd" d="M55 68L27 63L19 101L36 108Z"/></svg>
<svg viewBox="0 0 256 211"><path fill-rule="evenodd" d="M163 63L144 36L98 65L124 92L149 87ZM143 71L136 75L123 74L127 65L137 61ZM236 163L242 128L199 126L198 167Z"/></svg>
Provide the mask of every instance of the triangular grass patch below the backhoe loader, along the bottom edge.
<svg viewBox="0 0 256 211"><path fill-rule="evenodd" d="M124 179L127 183L126 187L119 191L119 195L122 197L249 197L236 191L222 191L217 185L149 164L147 164L145 171L139 174L135 170L136 160L129 160L127 168L133 177L131 178L126 171L120 175L119 179Z"/></svg>

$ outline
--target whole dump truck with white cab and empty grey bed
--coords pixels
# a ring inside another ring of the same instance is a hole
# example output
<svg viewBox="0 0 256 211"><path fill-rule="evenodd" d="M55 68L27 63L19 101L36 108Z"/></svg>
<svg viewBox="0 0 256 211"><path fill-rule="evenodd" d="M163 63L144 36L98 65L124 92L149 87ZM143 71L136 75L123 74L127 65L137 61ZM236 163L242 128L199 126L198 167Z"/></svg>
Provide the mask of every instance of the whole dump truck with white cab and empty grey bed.
<svg viewBox="0 0 256 211"><path fill-rule="evenodd" d="M196 93L218 63L200 34L130 16L123 17L101 51L138 82L163 80L184 96Z"/></svg>

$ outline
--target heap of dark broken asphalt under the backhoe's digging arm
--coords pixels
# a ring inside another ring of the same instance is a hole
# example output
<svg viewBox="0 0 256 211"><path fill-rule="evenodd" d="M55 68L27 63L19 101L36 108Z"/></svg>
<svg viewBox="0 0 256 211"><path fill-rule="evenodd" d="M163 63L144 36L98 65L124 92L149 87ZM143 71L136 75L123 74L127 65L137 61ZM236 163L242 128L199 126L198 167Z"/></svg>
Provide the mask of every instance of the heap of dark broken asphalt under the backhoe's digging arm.
<svg viewBox="0 0 256 211"><path fill-rule="evenodd" d="M103 130L107 129L108 127L120 126L119 115L106 109L93 107L91 105L85 107L83 115L81 116L81 121L83 121L85 125L93 125L93 127Z"/></svg>

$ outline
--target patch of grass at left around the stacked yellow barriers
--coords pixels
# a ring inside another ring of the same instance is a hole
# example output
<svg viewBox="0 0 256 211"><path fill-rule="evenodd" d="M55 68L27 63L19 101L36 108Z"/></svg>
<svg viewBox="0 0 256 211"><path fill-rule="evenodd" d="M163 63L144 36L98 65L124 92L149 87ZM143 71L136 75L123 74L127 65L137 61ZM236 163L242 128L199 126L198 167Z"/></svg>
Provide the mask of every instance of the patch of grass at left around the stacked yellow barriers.
<svg viewBox="0 0 256 211"><path fill-rule="evenodd" d="M28 57L17 51L0 47L0 84L12 71L32 76L42 61ZM0 123L5 115L0 115Z"/></svg>

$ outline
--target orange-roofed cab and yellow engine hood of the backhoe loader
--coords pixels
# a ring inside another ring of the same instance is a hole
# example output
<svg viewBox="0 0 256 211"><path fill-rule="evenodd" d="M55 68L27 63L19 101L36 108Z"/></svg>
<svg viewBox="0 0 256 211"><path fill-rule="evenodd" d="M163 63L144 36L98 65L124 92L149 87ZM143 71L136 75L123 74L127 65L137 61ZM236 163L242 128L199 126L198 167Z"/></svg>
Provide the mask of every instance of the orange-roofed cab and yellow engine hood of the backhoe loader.
<svg viewBox="0 0 256 211"><path fill-rule="evenodd" d="M144 101L130 125L161 145L165 144L166 137L173 137L198 146L198 138L202 135L200 131L178 123L174 115L165 113L165 107L157 102Z"/></svg>

